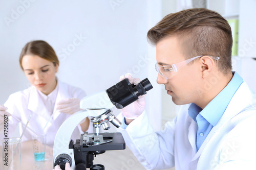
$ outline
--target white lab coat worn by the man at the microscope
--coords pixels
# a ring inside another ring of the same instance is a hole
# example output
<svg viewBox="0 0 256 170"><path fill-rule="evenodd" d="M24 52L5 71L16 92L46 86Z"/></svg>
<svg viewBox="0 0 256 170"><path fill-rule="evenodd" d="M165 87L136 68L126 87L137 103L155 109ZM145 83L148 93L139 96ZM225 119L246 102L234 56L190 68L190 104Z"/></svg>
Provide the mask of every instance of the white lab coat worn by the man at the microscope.
<svg viewBox="0 0 256 170"><path fill-rule="evenodd" d="M163 131L153 131L146 113L137 117L126 130L119 128L118 131L146 169L173 166L176 170L255 169L256 102L253 95L247 84L242 83L198 152L198 127L188 115L189 105L184 105ZM123 115L119 114L118 118L122 119Z"/></svg>

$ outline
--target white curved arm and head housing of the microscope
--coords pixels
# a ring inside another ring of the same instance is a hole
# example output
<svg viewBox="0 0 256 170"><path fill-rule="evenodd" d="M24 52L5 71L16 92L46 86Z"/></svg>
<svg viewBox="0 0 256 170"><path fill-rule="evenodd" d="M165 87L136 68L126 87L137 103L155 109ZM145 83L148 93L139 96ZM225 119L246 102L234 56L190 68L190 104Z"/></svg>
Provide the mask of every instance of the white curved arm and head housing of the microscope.
<svg viewBox="0 0 256 170"><path fill-rule="evenodd" d="M73 160L72 169L75 169L73 149L69 149L71 135L82 119L91 116L98 117L108 109L114 107L106 91L98 92L92 96L83 98L80 108L84 109L70 116L59 128L53 146L53 165L60 154L67 154Z"/></svg>

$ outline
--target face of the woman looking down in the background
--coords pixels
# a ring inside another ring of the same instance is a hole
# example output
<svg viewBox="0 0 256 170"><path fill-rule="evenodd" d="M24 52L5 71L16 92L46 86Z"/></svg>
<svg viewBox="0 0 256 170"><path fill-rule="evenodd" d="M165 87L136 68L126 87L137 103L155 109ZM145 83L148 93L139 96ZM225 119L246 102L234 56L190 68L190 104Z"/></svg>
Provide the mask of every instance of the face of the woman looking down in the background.
<svg viewBox="0 0 256 170"><path fill-rule="evenodd" d="M48 95L56 87L55 73L58 71L58 64L43 59L36 55L25 55L22 59L22 66L30 84L37 90Z"/></svg>

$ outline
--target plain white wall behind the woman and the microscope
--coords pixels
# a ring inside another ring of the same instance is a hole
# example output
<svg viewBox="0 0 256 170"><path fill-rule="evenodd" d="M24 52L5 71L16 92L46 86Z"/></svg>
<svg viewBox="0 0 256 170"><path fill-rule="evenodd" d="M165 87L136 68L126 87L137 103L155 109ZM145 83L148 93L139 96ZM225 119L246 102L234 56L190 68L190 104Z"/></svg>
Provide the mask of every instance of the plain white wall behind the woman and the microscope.
<svg viewBox="0 0 256 170"><path fill-rule="evenodd" d="M29 86L18 58L31 40L52 45L60 60L58 78L88 95L116 84L126 72L144 79L154 70L148 67L155 56L148 55L146 33L161 19L160 1L1 0L0 11L0 104ZM153 84L156 76L154 70ZM157 98L147 95L153 103Z"/></svg>

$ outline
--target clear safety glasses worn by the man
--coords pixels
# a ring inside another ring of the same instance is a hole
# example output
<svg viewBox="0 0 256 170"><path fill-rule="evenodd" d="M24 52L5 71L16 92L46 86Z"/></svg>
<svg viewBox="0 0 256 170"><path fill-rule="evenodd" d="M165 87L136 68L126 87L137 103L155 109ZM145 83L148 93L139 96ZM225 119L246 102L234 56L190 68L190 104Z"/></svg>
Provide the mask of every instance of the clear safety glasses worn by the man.
<svg viewBox="0 0 256 170"><path fill-rule="evenodd" d="M176 63L176 64L172 64L172 65L159 66L158 63L156 63L156 65L155 65L156 70L157 70L157 72L160 76L162 76L165 79L168 79L168 77L170 77L170 75L173 72L177 72L180 68L184 67L189 62L191 62L191 61L193 61L197 58L203 57L203 56L206 56L206 55L196 56L196 57L181 61L181 62ZM207 55L207 56L209 56L209 55ZM209 56L209 57L211 57L212 59L215 59L215 60L220 59L220 57L216 57L216 56Z"/></svg>

